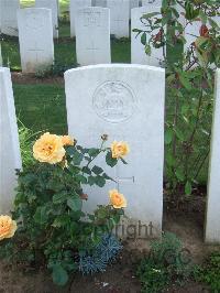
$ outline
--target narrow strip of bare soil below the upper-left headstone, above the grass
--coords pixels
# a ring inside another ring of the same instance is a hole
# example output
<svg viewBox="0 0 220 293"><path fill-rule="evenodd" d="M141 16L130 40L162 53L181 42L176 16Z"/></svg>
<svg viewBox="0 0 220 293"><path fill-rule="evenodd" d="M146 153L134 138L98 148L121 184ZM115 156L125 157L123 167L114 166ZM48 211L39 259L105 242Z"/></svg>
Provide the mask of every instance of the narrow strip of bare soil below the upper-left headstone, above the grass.
<svg viewBox="0 0 220 293"><path fill-rule="evenodd" d="M38 78L34 74L12 73L12 82L21 85L64 85L64 77Z"/></svg>

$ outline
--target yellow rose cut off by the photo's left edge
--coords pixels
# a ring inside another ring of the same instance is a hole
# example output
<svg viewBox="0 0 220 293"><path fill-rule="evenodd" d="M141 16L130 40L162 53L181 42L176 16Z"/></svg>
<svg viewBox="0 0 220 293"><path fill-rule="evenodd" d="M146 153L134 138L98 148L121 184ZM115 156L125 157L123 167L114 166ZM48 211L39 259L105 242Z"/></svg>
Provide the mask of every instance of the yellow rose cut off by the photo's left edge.
<svg viewBox="0 0 220 293"><path fill-rule="evenodd" d="M16 230L16 223L9 216L0 216L0 240L11 238Z"/></svg>

